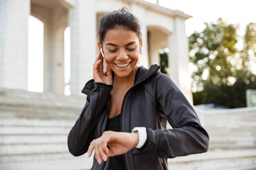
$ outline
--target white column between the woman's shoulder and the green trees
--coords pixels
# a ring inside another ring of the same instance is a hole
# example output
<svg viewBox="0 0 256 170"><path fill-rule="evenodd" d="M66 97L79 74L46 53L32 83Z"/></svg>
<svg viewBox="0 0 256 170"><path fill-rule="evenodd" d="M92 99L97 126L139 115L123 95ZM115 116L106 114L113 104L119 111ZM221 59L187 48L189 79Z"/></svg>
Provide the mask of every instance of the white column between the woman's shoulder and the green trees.
<svg viewBox="0 0 256 170"><path fill-rule="evenodd" d="M168 37L168 66L171 68L171 79L180 88L191 104L191 76L189 75L189 42L185 33L184 19L174 18L173 33Z"/></svg>

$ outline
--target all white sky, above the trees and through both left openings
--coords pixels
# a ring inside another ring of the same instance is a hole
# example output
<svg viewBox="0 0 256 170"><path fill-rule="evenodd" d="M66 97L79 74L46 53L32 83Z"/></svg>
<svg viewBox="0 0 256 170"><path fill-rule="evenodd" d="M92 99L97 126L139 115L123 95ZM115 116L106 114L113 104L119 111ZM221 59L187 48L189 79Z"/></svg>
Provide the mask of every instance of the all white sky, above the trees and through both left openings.
<svg viewBox="0 0 256 170"><path fill-rule="evenodd" d="M146 0L156 3L156 0ZM186 35L205 28L204 22L222 18L228 24L239 24L238 35L243 36L249 22L256 22L256 0L159 0L159 5L191 15L185 21ZM43 23L29 17L28 90L43 92ZM38 36L39 35L39 36ZM65 31L65 82L70 78L70 29ZM241 44L241 42L240 42ZM238 44L239 46L239 44ZM256 64L253 65L256 68ZM256 71L255 71L256 73ZM68 86L65 94L69 95Z"/></svg>

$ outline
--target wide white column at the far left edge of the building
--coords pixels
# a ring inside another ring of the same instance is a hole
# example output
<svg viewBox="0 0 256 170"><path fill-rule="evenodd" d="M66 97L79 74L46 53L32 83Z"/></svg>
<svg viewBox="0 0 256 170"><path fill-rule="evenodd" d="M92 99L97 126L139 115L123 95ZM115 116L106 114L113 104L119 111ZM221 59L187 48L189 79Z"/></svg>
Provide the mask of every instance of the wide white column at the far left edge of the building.
<svg viewBox="0 0 256 170"><path fill-rule="evenodd" d="M0 87L27 90L30 0L0 0Z"/></svg>

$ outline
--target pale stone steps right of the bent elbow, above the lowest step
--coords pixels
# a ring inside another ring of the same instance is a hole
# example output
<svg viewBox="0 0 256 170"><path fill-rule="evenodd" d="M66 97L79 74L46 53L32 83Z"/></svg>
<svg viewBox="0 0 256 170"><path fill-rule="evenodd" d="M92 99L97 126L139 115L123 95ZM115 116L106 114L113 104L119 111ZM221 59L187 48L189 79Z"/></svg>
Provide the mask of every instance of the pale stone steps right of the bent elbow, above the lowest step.
<svg viewBox="0 0 256 170"><path fill-rule="evenodd" d="M194 108L209 133L209 150L256 149L256 108Z"/></svg>

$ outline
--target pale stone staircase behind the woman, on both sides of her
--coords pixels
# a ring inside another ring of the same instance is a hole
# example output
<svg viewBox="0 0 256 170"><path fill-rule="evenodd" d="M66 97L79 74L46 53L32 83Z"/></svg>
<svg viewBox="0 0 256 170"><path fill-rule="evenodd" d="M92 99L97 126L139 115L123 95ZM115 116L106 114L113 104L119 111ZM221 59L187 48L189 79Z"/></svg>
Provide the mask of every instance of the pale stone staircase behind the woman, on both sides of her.
<svg viewBox="0 0 256 170"><path fill-rule="evenodd" d="M0 170L90 170L92 158L73 157L67 135L86 96L0 88ZM256 108L203 110L209 151L168 159L170 169L256 169Z"/></svg>

